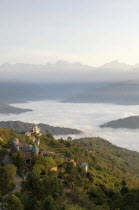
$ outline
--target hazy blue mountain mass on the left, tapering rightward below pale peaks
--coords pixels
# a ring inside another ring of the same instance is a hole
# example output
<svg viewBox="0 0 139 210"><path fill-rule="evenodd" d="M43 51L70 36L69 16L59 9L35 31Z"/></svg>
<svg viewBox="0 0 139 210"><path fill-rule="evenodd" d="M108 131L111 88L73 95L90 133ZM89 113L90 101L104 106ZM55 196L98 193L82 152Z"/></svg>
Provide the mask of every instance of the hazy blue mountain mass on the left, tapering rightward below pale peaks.
<svg viewBox="0 0 139 210"><path fill-rule="evenodd" d="M24 103L35 100L62 100L105 83L22 83L0 82L0 102Z"/></svg>

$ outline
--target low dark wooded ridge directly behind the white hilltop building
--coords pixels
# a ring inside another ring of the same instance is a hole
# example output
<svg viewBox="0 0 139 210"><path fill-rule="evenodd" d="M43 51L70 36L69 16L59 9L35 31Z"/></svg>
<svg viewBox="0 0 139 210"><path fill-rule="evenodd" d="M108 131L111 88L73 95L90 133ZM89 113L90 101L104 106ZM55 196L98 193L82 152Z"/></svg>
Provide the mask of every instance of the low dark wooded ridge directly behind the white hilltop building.
<svg viewBox="0 0 139 210"><path fill-rule="evenodd" d="M17 133L25 133L34 126L33 123L25 123L22 121L1 121L0 128L6 128L8 130L14 130ZM81 134L82 132L72 128L54 127L47 124L39 123L38 127L42 133L51 133L52 135L69 135L69 134Z"/></svg>

